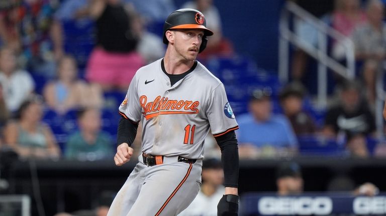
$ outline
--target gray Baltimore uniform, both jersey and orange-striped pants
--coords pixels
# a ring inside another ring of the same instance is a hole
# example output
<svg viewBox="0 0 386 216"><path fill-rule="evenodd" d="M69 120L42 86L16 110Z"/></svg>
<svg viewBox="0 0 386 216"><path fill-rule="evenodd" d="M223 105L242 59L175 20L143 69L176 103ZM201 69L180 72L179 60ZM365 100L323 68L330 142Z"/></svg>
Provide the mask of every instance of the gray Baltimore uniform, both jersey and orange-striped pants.
<svg viewBox="0 0 386 216"><path fill-rule="evenodd" d="M138 70L119 111L142 120L142 151L162 155L146 166L142 155L110 207L108 216L177 215L196 197L204 140L238 128L224 85L202 64L170 86L161 60ZM178 157L197 159L178 162Z"/></svg>

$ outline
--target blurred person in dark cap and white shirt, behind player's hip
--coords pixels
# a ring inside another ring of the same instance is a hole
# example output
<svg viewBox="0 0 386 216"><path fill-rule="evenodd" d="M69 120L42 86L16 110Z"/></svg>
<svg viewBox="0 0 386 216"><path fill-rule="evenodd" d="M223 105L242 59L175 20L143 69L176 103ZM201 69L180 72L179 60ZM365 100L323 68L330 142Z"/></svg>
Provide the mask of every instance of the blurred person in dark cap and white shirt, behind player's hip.
<svg viewBox="0 0 386 216"><path fill-rule="evenodd" d="M217 204L225 191L221 160L209 158L203 161L202 181L199 194L178 216L217 215Z"/></svg>

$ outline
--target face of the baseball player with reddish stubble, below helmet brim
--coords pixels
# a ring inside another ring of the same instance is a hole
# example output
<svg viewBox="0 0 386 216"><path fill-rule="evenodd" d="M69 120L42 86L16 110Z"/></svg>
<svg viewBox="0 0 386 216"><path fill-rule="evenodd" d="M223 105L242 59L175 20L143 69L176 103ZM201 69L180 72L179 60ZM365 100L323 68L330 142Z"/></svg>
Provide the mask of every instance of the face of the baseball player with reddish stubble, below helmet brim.
<svg viewBox="0 0 386 216"><path fill-rule="evenodd" d="M173 31L175 51L184 60L192 61L199 55L204 31L196 29Z"/></svg>

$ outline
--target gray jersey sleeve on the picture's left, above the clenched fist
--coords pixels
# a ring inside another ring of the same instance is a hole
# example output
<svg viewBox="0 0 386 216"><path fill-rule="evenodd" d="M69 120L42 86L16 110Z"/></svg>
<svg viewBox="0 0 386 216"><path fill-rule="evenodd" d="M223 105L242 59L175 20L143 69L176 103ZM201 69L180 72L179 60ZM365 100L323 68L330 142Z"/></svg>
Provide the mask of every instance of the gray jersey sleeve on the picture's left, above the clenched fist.
<svg viewBox="0 0 386 216"><path fill-rule="evenodd" d="M132 122L137 123L141 120L141 106L139 104L136 76L131 80L126 97L119 106L119 114Z"/></svg>

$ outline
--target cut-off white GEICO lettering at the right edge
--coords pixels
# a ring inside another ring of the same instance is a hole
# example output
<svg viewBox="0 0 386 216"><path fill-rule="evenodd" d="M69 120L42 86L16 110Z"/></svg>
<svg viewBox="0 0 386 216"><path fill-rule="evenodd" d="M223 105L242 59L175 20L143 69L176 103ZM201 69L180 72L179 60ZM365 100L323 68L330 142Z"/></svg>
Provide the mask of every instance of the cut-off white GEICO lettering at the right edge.
<svg viewBox="0 0 386 216"><path fill-rule="evenodd" d="M352 207L355 214L384 214L386 196L356 197Z"/></svg>

